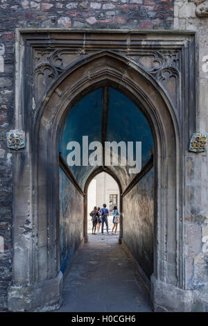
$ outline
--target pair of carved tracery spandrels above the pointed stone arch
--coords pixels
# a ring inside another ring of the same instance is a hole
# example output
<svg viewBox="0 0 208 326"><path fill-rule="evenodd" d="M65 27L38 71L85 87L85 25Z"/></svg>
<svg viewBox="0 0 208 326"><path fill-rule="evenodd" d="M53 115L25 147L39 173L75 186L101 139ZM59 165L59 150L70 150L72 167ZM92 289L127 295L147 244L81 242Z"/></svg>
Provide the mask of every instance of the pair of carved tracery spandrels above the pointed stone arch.
<svg viewBox="0 0 208 326"><path fill-rule="evenodd" d="M80 58L85 60L85 58L87 59L88 57L88 55L70 53L67 49L55 50L51 51L51 53L45 50L45 52L46 53L38 52L35 54L35 62L38 62L37 65L35 65L33 77L35 85L35 103L40 103L42 96L46 90L49 89L49 86L53 84L54 80L57 79L60 74L70 69L70 65L76 65L76 60ZM178 85L180 85L180 71L177 68L180 65L180 62L177 62L179 61L178 52L168 53L167 55L163 55L159 51L139 51L139 49L138 55L130 55L129 53L127 55L125 52L121 54L119 51L112 52L130 58L130 60L135 60L146 72L151 74L159 82L162 82L164 89L166 89L173 103L176 105L175 98L177 97L177 92L179 92ZM96 54L96 52L94 52L94 54ZM41 60L41 58L43 60ZM171 74L171 76L166 76L166 78L160 78L164 69L173 71L173 74ZM175 83L172 84L171 92L169 92L166 83L168 83L168 79L171 77L175 78Z"/></svg>

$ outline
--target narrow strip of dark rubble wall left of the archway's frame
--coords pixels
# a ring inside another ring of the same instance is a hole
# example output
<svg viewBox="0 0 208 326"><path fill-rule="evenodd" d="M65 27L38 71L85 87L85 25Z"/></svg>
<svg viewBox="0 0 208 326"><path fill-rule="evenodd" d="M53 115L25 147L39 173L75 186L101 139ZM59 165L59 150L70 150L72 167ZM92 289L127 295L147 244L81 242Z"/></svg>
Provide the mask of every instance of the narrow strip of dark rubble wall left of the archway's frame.
<svg viewBox="0 0 208 326"><path fill-rule="evenodd" d="M1 11L1 10L0 10ZM1 28L1 26L0 26ZM6 131L13 126L14 33L0 32L0 310L6 308L12 277L12 171L13 157L6 147Z"/></svg>

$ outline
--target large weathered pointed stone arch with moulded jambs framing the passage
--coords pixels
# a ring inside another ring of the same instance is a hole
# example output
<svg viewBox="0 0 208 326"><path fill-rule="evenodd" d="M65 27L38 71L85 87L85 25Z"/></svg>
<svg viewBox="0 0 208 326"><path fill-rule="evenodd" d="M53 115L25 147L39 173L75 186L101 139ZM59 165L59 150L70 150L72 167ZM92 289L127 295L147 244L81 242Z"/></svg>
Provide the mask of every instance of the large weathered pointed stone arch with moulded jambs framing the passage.
<svg viewBox="0 0 208 326"><path fill-rule="evenodd" d="M51 76L53 74L51 73ZM183 289L182 151L180 123L174 105L160 83L141 65L114 51L85 55L57 76L32 117L25 116L27 146L24 164L17 163L21 181L15 189L14 276L8 293L10 310L57 307L62 289L58 230L58 136L74 103L92 89L112 85L128 96L146 115L155 141L155 266L152 301L155 310L180 293L183 310L191 295ZM29 177L29 178L28 178ZM19 180L17 178L17 180ZM19 208L21 200L29 206ZM29 207L29 208L28 208ZM28 213L29 212L29 213ZM17 216L21 216L17 221ZM31 228L19 228L29 216ZM19 295L21 286L21 295ZM41 296L39 295L41 291ZM40 298L41 297L41 298ZM166 303L167 302L167 303Z"/></svg>

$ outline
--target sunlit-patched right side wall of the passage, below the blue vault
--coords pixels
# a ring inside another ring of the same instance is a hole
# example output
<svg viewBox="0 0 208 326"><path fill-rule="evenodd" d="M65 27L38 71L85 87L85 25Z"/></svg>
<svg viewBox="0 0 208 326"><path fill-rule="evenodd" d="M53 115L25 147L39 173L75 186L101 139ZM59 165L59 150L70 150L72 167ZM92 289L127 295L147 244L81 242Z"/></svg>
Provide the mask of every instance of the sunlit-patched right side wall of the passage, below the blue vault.
<svg viewBox="0 0 208 326"><path fill-rule="evenodd" d="M150 278L153 273L153 169L123 198L123 240Z"/></svg>

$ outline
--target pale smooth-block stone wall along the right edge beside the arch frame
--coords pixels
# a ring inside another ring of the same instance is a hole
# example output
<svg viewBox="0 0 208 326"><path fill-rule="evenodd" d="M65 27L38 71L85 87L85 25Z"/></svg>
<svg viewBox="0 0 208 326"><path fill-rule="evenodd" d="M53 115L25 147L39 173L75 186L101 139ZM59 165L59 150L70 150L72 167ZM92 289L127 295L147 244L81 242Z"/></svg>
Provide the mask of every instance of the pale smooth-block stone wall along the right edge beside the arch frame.
<svg viewBox="0 0 208 326"><path fill-rule="evenodd" d="M208 132L208 4L175 1L174 28L198 31L198 130ZM186 289L195 289L195 311L208 309L208 153L187 152L185 207Z"/></svg>

